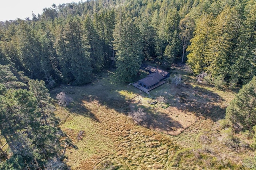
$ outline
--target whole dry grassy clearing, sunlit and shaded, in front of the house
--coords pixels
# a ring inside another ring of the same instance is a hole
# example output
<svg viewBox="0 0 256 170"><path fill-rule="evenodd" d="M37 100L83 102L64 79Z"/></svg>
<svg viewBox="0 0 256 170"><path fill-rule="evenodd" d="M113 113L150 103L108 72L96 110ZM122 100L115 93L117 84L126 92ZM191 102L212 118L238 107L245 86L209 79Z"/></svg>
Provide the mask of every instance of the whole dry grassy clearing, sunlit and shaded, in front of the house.
<svg viewBox="0 0 256 170"><path fill-rule="evenodd" d="M150 95L119 83L114 71L105 71L85 86L52 90L52 98L65 91L73 99L69 107L56 110L60 127L78 147L67 148L68 165L74 170L246 168L242 160L253 156L250 140L233 144L220 123L234 93L198 84L182 66L174 65L171 71L185 85L167 79ZM167 101L148 104L159 96ZM135 125L128 113L138 108L147 119Z"/></svg>

